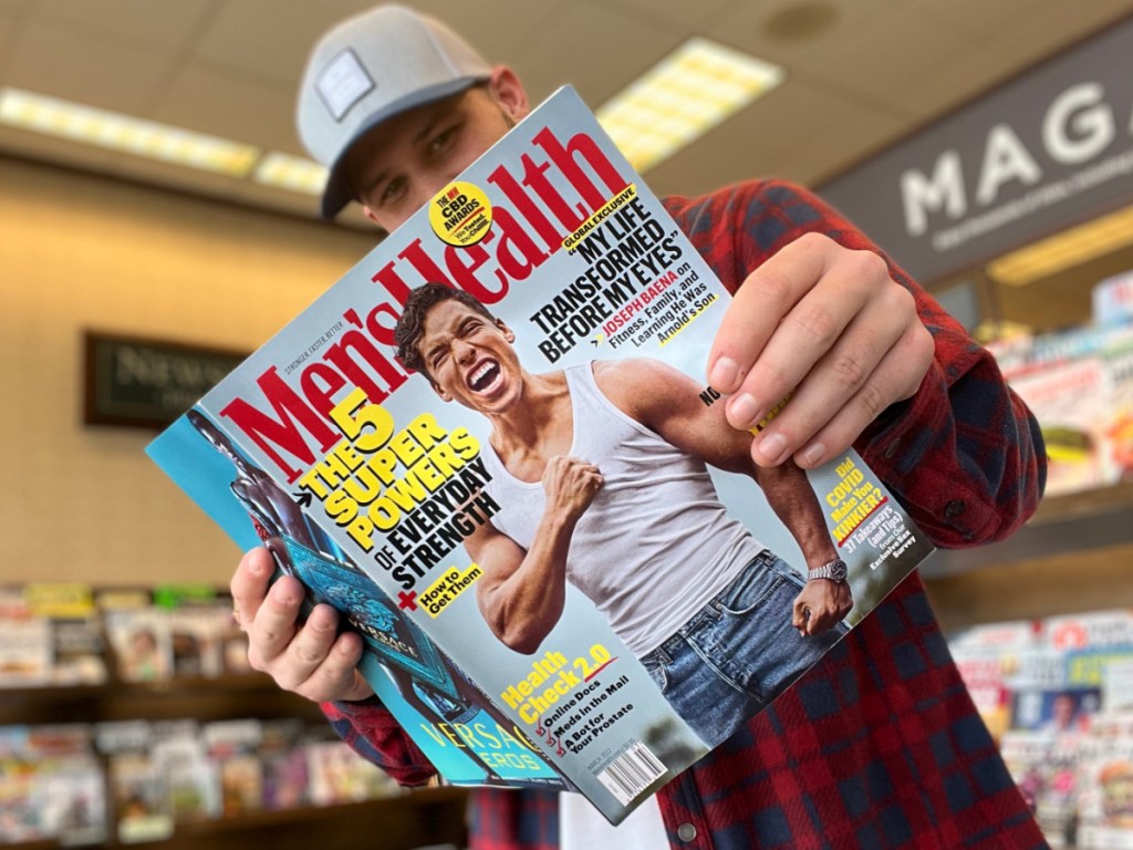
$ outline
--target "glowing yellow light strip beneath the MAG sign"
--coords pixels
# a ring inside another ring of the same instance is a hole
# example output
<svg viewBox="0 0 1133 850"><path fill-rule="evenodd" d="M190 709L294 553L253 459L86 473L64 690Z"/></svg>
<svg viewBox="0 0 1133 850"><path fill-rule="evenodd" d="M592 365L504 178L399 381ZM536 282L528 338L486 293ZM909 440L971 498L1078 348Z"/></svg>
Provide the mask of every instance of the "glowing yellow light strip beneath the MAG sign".
<svg viewBox="0 0 1133 850"><path fill-rule="evenodd" d="M1004 254L987 265L997 283L1021 287L1133 243L1133 206Z"/></svg>

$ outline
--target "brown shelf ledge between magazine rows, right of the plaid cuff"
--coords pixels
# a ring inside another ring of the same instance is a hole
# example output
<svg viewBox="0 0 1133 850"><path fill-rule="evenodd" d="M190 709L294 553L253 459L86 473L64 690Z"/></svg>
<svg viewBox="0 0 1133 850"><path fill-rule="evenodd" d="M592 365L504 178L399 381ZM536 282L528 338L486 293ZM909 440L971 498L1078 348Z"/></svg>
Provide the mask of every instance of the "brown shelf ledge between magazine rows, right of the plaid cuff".
<svg viewBox="0 0 1133 850"><path fill-rule="evenodd" d="M946 630L1133 606L1131 573L1133 482L1050 498L1008 539L921 566Z"/></svg>

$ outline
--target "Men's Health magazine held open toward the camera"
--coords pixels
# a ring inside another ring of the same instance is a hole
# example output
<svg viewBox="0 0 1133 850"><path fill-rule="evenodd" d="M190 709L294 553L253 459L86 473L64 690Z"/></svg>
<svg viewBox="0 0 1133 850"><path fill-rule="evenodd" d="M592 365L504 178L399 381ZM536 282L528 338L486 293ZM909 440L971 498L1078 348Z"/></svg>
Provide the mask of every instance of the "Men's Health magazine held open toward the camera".
<svg viewBox="0 0 1133 850"><path fill-rule="evenodd" d="M617 823L931 551L853 452L751 467L702 383L726 303L563 88L148 451L346 614L449 781ZM807 585L824 563L846 583ZM725 647L742 708L692 696L682 636Z"/></svg>

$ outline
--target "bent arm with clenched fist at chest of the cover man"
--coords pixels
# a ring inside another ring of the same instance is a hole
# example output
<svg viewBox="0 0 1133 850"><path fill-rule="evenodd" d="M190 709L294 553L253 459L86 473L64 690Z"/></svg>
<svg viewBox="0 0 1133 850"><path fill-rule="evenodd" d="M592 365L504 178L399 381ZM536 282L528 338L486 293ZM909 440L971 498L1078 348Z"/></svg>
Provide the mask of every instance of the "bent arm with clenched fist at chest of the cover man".
<svg viewBox="0 0 1133 850"><path fill-rule="evenodd" d="M543 474L546 508L529 549L491 524L465 542L484 570L476 583L480 613L492 632L516 652L535 653L562 617L571 536L602 484L593 464L554 457Z"/></svg>

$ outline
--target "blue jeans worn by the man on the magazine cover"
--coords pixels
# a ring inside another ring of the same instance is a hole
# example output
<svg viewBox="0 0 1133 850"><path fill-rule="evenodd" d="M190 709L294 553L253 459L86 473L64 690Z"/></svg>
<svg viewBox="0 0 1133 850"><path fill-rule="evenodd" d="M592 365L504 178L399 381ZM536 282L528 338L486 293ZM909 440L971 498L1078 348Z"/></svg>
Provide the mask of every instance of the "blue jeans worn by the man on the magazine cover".
<svg viewBox="0 0 1133 850"><path fill-rule="evenodd" d="M791 624L804 583L764 550L732 583L641 663L709 747L769 705L849 631L802 637Z"/></svg>

